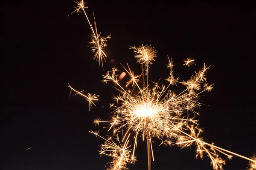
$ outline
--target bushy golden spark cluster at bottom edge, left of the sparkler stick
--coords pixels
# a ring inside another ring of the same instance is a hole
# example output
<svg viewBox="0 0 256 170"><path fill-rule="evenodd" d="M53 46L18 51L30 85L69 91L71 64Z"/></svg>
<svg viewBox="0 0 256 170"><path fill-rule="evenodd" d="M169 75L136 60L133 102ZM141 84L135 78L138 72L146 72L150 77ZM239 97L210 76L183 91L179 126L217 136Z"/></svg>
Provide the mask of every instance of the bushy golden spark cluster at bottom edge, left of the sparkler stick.
<svg viewBox="0 0 256 170"><path fill-rule="evenodd" d="M96 136L99 136L99 132L90 131ZM113 161L109 162L110 166L108 170L128 170L126 167L127 164L133 164L135 160L131 160L131 149L130 145L128 145L129 140L128 138L121 144L119 141L118 136L116 136L116 142L113 142L112 138L109 137L108 139L99 136L100 138L105 140L104 144L101 144L101 150L99 150L100 155L107 155L113 157Z"/></svg>

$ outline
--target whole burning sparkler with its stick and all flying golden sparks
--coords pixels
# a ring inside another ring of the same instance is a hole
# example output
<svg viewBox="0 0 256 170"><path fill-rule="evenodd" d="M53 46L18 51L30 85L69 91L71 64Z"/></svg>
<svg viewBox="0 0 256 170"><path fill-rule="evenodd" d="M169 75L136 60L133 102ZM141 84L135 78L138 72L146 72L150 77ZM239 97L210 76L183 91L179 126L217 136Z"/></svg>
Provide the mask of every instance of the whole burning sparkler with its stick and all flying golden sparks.
<svg viewBox="0 0 256 170"><path fill-rule="evenodd" d="M76 11L80 9L84 11L84 2L80 1L78 4L79 6L76 8ZM85 11L84 14L87 17ZM88 22L90 24L89 20ZM102 48L99 47L100 44L98 42L101 40L101 37L98 37L96 23L94 22L94 24L95 30L90 24L93 33L93 49L99 51L98 53L96 52L95 55L97 56L96 59L101 61L99 63L102 63L102 59L105 59L105 53L102 52ZM102 41L105 43L107 39L103 39ZM125 87L120 84L117 78L117 68L112 68L111 71L103 75L103 82L112 82L119 94L113 96L113 99L116 100L116 104L110 104L113 108L111 120L102 121L96 119L94 121L96 125L103 122L107 123L109 125L108 131L113 131L113 136L116 136L118 144L116 144L112 138L105 139L99 136L98 132L90 131L90 133L105 140L99 152L101 155L104 154L113 157L111 166L108 168L109 170L128 169L126 164L133 163L136 160L135 150L138 139L142 138L142 140L145 140L145 136L147 138L147 145L149 146L148 170L151 170L151 154L152 160L154 161L152 148L152 139L154 138L160 139L162 141L161 144L170 146L178 144L180 147L188 147L195 143L196 157L200 156L201 159L203 159L204 154L207 154L214 170L223 170L223 165L226 163L220 155L227 156L228 159L231 159L232 156L247 159L250 161L250 170L256 170L255 157L250 159L241 156L237 153L217 147L213 143L209 144L204 142L204 139L200 137L202 130L198 127L198 120L195 119L195 116L199 114L196 112L196 109L201 105L198 100L202 93L212 90L212 84L207 83L205 76L209 69L206 64L189 80L179 81L179 78L173 75L174 64L172 59L168 57L169 63L167 68L169 68L169 77L166 78L166 81L169 82L169 84L160 85L159 80L158 82L153 82L153 85L149 85L148 70L157 57L156 50L148 45L131 47L131 49L134 50L135 58L137 58L137 62L139 62L142 67L142 73L135 75L128 64L127 66L122 65L126 74L130 76ZM195 64L193 63L194 61L194 59L187 59L184 61L184 65L189 67L189 65ZM175 93L173 89L173 86L177 86L177 84L184 85L185 87L185 90L179 94ZM75 91L73 88L71 89ZM80 92L76 92L80 94ZM96 100L98 96L94 96L94 98L91 96L85 97L87 101L89 101L90 109L90 102L93 103L93 100ZM122 133L122 138L119 140L120 133ZM132 149L129 149L130 145L128 146L128 142L131 138L133 138L134 142Z"/></svg>

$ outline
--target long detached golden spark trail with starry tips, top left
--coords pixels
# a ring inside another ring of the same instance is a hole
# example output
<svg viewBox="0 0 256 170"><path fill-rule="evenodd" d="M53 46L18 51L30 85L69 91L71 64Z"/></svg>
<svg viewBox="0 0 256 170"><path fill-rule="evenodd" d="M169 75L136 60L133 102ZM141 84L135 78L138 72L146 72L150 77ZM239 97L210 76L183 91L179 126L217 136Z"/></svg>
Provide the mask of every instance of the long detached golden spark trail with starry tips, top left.
<svg viewBox="0 0 256 170"><path fill-rule="evenodd" d="M94 17L94 28L93 28L93 25L90 23L90 20L84 10L84 8L87 8L87 6L84 6L84 0L81 0L75 3L77 3L78 6L74 7L76 8L76 10L73 11L71 14L73 14L74 12L79 12L80 10L84 12L84 15L92 31L91 41L89 43L91 44L90 48L95 53L93 56L93 59L98 61L99 66L102 65L102 69L103 69L103 60L106 61L105 58L107 57L107 54L105 53L104 48L107 46L107 41L111 38L111 35L109 34L107 37L101 37L100 35L101 33L98 33L97 31L94 13L93 13L93 17Z"/></svg>

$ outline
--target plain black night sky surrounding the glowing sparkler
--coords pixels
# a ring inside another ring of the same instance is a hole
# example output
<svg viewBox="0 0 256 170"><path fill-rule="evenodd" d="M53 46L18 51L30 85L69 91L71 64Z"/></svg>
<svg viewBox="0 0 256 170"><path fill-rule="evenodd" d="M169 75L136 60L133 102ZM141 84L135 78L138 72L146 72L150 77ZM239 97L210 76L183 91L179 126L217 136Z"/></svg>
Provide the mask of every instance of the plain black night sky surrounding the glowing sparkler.
<svg viewBox="0 0 256 170"><path fill-rule="evenodd" d="M244 156L256 153L254 4L88 0L90 19L94 9L99 31L112 36L104 71L87 48L90 28L84 15L67 17L75 5L72 0L2 2L2 170L104 170L110 159L99 157L103 141L89 133L98 129L93 119L107 119L111 112L107 106L114 90L101 82L102 74L114 65L122 71L119 62L138 68L128 45L140 44L158 51L149 73L154 80L167 73L167 55L181 79L204 62L212 65L207 77L214 89L201 97L205 105L198 117L203 136ZM186 57L197 65L182 66ZM81 96L69 98L67 83L100 95L93 112ZM195 159L194 147L159 144L154 139L153 170L212 170L208 157ZM146 170L146 142L139 141L137 155L130 170ZM244 170L247 164L234 157L224 169Z"/></svg>

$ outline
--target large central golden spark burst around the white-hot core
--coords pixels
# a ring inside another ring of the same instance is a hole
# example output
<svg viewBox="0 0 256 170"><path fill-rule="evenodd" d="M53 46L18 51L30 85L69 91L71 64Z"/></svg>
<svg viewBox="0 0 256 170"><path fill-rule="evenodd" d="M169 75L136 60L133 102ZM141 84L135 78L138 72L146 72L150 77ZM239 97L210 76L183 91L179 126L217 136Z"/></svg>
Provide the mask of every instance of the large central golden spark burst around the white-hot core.
<svg viewBox="0 0 256 170"><path fill-rule="evenodd" d="M136 54L139 53L138 51ZM137 56L142 56L145 51L140 51L141 54ZM156 57L156 56L155 56ZM148 58L137 57L137 61L141 64L145 64L148 68ZM125 71L131 77L128 84L133 82L134 86L132 89L122 87L117 79L116 68L112 71L108 71L104 75L103 82L113 82L115 88L119 91L119 95L113 98L118 101L119 104L112 105L114 111L112 112L112 120L109 130L114 131L124 131L124 137L122 141L127 140L130 131L133 131L134 136L134 149L132 158L135 153L135 148L137 146L137 139L141 136L143 140L145 139L145 134L149 132L150 143L153 137L159 139L168 139L169 144L172 140L178 139L180 137L180 131L184 130L184 126L188 122L196 124L196 120L189 118L188 111L196 113L195 108L200 106L198 102L198 96L204 91L208 91L209 88L204 88L203 84L206 84L206 78L204 77L208 67L204 65L201 71L195 74L191 79L193 80L193 85L186 85L187 88L180 94L175 94L169 88L171 85L178 82L173 76L173 64L172 59L169 59L170 75L169 85L160 86L159 83L154 83L153 87L148 86L148 75L146 74L146 84L145 88L141 87L140 76L134 76L130 67L127 64L127 68L123 66ZM200 88L199 88L200 87ZM193 91L193 93L191 93ZM97 121L95 123L99 123ZM107 121L104 121L107 122ZM151 144L152 146L152 144ZM152 158L154 160L154 154L151 147Z"/></svg>

